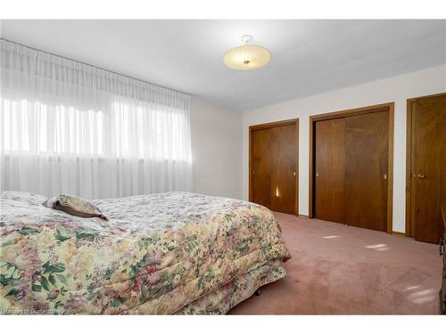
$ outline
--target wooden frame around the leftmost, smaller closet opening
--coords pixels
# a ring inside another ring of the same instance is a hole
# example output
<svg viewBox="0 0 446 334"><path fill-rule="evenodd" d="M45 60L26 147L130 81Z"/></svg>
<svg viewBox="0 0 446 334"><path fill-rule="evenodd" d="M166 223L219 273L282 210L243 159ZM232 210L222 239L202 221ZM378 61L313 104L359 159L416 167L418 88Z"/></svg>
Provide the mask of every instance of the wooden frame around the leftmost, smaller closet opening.
<svg viewBox="0 0 446 334"><path fill-rule="evenodd" d="M252 131L268 129L276 126L296 126L296 200L294 203L295 216L299 216L299 118L279 120L277 122L263 123L249 126L249 200L252 201Z"/></svg>

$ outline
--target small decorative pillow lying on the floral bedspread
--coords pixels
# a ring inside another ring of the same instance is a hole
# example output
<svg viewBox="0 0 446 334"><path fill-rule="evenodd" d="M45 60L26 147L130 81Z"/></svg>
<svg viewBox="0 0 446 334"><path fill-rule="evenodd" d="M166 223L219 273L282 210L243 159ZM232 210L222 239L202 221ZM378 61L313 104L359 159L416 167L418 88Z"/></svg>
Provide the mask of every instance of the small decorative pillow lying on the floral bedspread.
<svg viewBox="0 0 446 334"><path fill-rule="evenodd" d="M99 217L108 220L99 208L92 202L82 199L78 196L60 194L43 203L47 208L55 208L70 214L71 216L80 216L83 218Z"/></svg>

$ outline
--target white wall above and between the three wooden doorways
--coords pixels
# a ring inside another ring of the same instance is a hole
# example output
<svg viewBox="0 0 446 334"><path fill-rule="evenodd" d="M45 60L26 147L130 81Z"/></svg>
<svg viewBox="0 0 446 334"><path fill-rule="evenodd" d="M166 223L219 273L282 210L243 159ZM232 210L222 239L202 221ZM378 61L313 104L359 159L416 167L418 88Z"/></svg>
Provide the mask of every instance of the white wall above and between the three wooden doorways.
<svg viewBox="0 0 446 334"><path fill-rule="evenodd" d="M244 111L244 200L248 199L248 126L299 118L299 214L309 213L310 115L395 102L393 151L393 231L405 230L406 101L409 98L446 92L446 65L398 77L351 86L325 94Z"/></svg>

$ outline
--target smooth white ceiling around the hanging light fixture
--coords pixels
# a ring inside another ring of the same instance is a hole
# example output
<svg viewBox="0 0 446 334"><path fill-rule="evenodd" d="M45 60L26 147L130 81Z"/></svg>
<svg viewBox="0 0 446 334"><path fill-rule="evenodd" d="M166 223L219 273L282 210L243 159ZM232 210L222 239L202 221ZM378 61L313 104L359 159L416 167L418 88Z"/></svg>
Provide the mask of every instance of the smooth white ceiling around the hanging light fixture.
<svg viewBox="0 0 446 334"><path fill-rule="evenodd" d="M446 63L446 20L2 20L12 41L247 110ZM250 34L267 67L227 69Z"/></svg>

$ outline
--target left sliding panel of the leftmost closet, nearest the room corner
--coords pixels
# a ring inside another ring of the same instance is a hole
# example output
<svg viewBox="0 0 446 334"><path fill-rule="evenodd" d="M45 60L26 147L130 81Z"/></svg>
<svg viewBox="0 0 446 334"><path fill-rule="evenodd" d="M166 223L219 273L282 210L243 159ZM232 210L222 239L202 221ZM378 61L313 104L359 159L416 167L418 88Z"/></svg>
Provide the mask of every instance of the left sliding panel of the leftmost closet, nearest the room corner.
<svg viewBox="0 0 446 334"><path fill-rule="evenodd" d="M271 208L271 129L252 131L252 201Z"/></svg>

